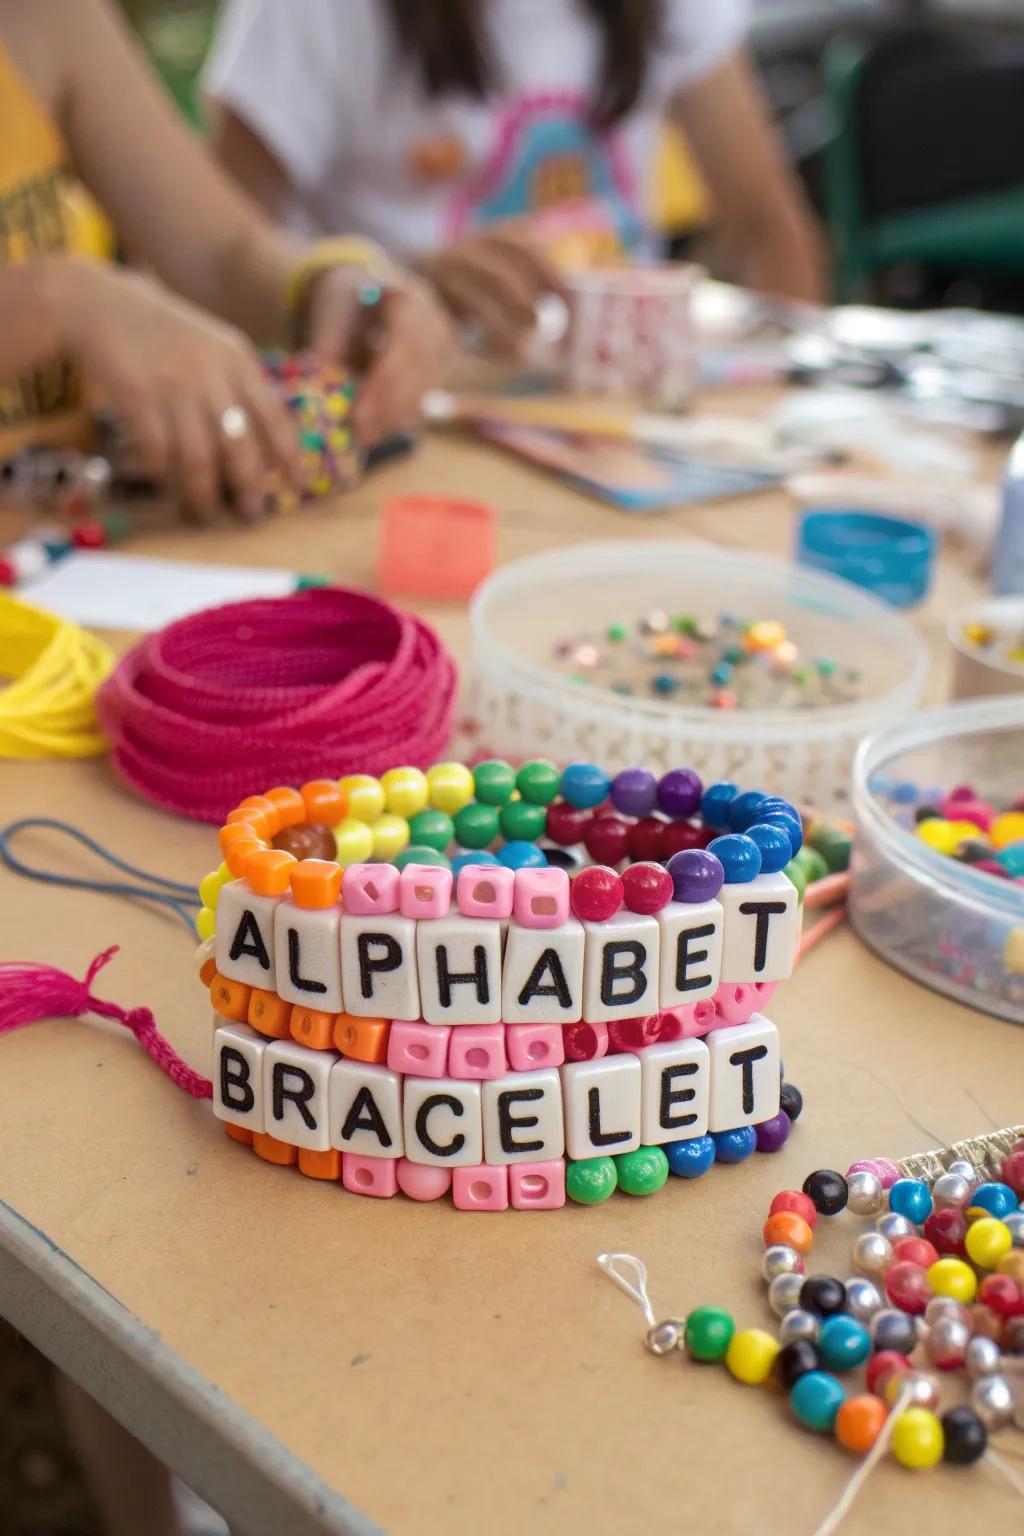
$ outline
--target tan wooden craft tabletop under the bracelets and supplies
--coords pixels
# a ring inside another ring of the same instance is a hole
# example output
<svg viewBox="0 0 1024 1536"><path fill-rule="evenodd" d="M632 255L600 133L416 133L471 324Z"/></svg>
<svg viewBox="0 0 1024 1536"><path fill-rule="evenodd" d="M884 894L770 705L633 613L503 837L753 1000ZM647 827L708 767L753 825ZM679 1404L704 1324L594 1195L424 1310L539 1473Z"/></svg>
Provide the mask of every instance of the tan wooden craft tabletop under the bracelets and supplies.
<svg viewBox="0 0 1024 1536"><path fill-rule="evenodd" d="M490 449L433 438L336 508L246 533L150 533L134 550L372 585L378 507L399 490L485 496L502 561L669 531L774 553L792 541L783 493L634 519ZM936 648L944 611L978 590L978 573L946 556L918 614ZM419 611L468 665L465 613ZM943 690L940 665L932 696ZM3 763L0 817L32 814L72 820L181 880L215 859L210 828L138 802L104 762ZM101 994L152 1006L175 1048L209 1069L209 1005L178 926L109 897L0 879L0 958L80 975L120 943ZM772 1017L806 1100L780 1155L671 1180L652 1200L491 1220L448 1203L358 1200L270 1167L224 1137L209 1104L177 1094L124 1031L35 1025L0 1041L0 1312L249 1536L368 1522L445 1536L800 1536L837 1498L849 1459L798 1430L777 1393L649 1356L639 1310L594 1258L642 1255L659 1315L708 1301L763 1326L771 1195L818 1166L1019 1121L1024 1031L924 991L847 931L780 988ZM857 1227L826 1227L814 1267L847 1273ZM989 1470L886 1464L843 1530L913 1522L952 1536L1012 1528L1019 1511Z"/></svg>

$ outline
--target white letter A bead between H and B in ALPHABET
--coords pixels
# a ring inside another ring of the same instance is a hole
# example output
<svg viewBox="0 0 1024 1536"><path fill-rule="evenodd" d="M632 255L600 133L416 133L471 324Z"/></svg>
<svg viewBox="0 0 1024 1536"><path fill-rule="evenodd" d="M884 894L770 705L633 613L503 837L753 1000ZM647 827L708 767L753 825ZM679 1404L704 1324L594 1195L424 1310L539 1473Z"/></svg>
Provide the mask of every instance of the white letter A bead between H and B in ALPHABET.
<svg viewBox="0 0 1024 1536"><path fill-rule="evenodd" d="M583 925L508 925L502 972L507 1025L574 1025L583 1017Z"/></svg>

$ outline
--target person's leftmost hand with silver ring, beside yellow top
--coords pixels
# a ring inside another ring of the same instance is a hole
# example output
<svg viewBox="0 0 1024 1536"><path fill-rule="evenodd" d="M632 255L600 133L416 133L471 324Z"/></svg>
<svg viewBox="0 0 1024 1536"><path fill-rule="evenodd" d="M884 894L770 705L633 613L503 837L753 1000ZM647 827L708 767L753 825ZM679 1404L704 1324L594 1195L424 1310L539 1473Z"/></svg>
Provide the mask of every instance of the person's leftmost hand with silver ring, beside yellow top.
<svg viewBox="0 0 1024 1536"><path fill-rule="evenodd" d="M170 481L212 515L227 487L241 518L259 515L267 468L298 482L293 422L252 344L137 272L61 263L61 353L89 404L127 427L140 472Z"/></svg>

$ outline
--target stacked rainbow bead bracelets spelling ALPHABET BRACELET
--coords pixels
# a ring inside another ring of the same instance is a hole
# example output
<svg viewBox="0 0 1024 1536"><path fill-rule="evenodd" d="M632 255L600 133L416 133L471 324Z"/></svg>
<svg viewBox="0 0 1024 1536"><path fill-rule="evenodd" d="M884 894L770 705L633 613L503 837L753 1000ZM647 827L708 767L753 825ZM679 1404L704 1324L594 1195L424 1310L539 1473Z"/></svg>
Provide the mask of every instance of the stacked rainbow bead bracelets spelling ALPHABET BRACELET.
<svg viewBox="0 0 1024 1536"><path fill-rule="evenodd" d="M250 796L200 886L213 1114L267 1161L467 1210L777 1150L800 1094L761 1009L795 962L801 840L789 802L691 770L450 762Z"/></svg>

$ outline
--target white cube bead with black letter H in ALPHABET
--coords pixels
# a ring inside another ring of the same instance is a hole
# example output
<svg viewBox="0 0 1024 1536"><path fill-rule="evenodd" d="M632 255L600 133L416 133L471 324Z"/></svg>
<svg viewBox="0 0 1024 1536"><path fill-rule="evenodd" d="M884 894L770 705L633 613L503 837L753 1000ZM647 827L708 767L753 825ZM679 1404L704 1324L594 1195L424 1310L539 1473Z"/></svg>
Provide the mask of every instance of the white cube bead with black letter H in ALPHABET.
<svg viewBox="0 0 1024 1536"><path fill-rule="evenodd" d="M494 919L451 912L419 923L416 960L421 1015L428 1025L502 1021L502 931Z"/></svg>

